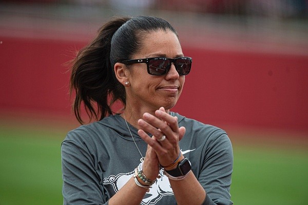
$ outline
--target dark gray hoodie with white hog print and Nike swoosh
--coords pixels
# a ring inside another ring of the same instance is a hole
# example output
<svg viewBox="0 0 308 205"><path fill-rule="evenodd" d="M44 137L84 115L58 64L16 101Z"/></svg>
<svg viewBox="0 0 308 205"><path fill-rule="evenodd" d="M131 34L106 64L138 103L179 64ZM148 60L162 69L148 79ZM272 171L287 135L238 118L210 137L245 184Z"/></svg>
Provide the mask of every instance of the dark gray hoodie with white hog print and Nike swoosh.
<svg viewBox="0 0 308 205"><path fill-rule="evenodd" d="M206 191L203 204L233 204L230 200L233 151L225 131L178 113L170 115L177 116L179 127L186 128L180 149ZM145 156L146 142L138 136L137 128L128 126ZM108 204L133 176L141 158L124 119L118 114L68 132L61 153L64 204ZM177 204L162 170L160 175L141 204Z"/></svg>

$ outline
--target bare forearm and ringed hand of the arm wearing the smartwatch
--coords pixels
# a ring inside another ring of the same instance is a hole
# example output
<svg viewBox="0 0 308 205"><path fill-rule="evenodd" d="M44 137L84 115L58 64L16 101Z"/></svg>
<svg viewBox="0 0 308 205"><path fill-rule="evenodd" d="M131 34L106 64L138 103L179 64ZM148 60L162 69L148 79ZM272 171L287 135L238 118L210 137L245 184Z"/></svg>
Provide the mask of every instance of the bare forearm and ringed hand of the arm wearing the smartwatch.
<svg viewBox="0 0 308 205"><path fill-rule="evenodd" d="M138 134L156 152L160 165L172 164L179 155L179 141L185 134L185 128L178 127L177 117L170 116L161 108L156 111L156 116L145 113L143 119L138 120L138 125L142 128ZM154 137L149 138L146 132L153 134ZM158 141L157 139L163 134L166 139ZM181 156L181 159L183 158L184 156ZM176 166L168 169L174 169ZM182 180L169 181L178 204L200 205L205 200L206 193L192 172Z"/></svg>

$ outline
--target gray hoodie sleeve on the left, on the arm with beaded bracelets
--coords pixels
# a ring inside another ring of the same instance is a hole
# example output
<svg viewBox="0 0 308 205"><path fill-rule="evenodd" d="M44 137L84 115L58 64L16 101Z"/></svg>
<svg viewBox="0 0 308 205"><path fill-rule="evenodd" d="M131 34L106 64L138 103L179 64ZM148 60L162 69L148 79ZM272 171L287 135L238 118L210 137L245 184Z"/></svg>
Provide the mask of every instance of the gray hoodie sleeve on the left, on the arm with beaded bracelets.
<svg viewBox="0 0 308 205"><path fill-rule="evenodd" d="M108 204L85 143L65 140L61 146L63 204Z"/></svg>

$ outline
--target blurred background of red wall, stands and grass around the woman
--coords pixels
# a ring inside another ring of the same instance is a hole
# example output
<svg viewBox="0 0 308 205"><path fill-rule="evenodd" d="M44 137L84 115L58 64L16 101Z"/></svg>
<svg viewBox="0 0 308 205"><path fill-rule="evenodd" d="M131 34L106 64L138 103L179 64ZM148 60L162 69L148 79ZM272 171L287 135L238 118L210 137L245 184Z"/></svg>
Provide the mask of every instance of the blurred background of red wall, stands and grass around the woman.
<svg viewBox="0 0 308 205"><path fill-rule="evenodd" d="M65 63L114 15L154 15L193 59L174 112L226 130L235 204L307 204L307 0L0 2L0 204L61 204L79 126Z"/></svg>

